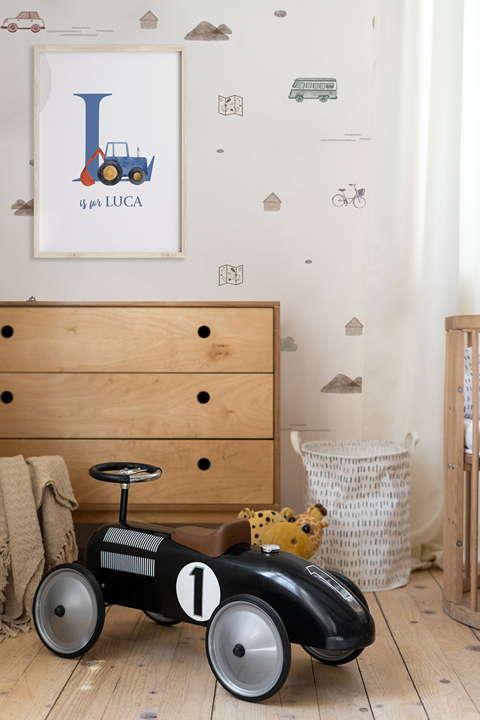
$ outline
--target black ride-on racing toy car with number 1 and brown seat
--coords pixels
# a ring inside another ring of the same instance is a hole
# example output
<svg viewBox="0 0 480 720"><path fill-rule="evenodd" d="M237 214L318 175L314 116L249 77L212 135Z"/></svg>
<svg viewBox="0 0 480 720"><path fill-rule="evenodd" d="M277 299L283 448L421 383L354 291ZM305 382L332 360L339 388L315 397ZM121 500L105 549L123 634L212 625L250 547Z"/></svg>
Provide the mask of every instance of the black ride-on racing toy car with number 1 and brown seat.
<svg viewBox="0 0 480 720"><path fill-rule="evenodd" d="M366 599L352 580L278 546L250 546L250 523L212 530L127 521L130 484L161 470L141 463L91 467L122 486L118 523L90 537L85 567L62 564L43 577L33 604L35 628L60 657L89 650L104 624L105 604L139 608L160 625L207 628L207 658L233 696L261 701L281 688L290 644L340 665L375 638Z"/></svg>

